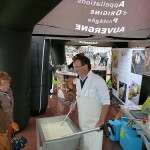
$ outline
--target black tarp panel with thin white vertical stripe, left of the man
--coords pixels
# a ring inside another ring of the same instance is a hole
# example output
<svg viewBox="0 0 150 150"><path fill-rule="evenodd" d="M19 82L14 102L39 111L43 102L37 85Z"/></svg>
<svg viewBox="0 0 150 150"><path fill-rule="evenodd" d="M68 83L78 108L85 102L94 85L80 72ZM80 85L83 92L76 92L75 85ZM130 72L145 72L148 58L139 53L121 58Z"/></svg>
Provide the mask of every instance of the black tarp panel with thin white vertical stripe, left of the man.
<svg viewBox="0 0 150 150"><path fill-rule="evenodd" d="M31 114L45 112L48 103L50 41L32 37L31 44Z"/></svg>

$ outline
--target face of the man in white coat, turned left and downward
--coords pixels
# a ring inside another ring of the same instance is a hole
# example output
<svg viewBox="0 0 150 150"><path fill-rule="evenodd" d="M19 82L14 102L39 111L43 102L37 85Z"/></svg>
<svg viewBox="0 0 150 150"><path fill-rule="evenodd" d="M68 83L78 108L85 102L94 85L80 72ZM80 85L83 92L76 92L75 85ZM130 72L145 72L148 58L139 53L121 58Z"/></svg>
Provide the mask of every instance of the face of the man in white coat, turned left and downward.
<svg viewBox="0 0 150 150"><path fill-rule="evenodd" d="M87 75L89 72L88 65L82 65L78 59L73 63L73 67L77 74L81 77Z"/></svg>

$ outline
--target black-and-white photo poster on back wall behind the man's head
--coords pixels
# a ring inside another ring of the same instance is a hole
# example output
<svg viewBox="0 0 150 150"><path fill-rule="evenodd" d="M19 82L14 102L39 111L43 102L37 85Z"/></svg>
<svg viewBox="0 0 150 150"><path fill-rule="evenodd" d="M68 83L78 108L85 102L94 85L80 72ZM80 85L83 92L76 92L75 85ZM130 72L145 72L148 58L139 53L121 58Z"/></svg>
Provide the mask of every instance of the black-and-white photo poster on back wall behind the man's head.
<svg viewBox="0 0 150 150"><path fill-rule="evenodd" d="M65 46L67 64L77 53L84 53L91 61L92 70L111 70L111 47Z"/></svg>

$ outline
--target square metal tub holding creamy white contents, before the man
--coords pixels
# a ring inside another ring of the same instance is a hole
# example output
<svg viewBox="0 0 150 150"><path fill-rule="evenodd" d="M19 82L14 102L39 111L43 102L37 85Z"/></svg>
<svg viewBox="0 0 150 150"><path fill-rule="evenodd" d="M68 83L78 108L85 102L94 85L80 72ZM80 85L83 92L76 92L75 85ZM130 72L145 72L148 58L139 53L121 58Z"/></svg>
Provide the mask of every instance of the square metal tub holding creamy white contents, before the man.
<svg viewBox="0 0 150 150"><path fill-rule="evenodd" d="M79 145L80 134L75 134L79 132L79 129L73 124L73 122L67 118L66 122L70 129L73 131L72 135L57 138L48 139L44 134L44 128L42 125L50 124L54 122L63 121L65 115L56 117L46 117L39 118L36 120L36 130L37 130L37 149L38 150L76 150Z"/></svg>

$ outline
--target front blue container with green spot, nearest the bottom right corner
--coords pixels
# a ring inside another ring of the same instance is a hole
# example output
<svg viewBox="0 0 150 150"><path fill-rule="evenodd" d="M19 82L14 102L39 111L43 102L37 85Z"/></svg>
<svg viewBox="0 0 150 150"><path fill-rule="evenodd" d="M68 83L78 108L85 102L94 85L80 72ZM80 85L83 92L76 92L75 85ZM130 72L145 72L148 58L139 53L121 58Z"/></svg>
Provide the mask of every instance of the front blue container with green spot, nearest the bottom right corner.
<svg viewBox="0 0 150 150"><path fill-rule="evenodd" d="M142 150L142 139L135 129L124 124L120 129L120 145L123 150Z"/></svg>

